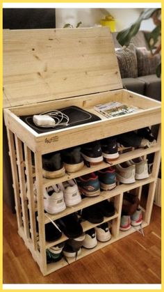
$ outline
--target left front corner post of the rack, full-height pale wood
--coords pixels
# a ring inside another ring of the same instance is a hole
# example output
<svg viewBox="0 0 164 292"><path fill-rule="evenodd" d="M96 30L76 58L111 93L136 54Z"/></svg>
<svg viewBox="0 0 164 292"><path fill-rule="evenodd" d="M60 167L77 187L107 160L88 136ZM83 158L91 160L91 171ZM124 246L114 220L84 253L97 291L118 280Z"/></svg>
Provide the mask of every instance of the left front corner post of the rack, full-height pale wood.
<svg viewBox="0 0 164 292"><path fill-rule="evenodd" d="M38 225L40 237L40 270L45 275L47 271L46 245L45 245L45 225L44 225L44 204L42 187L42 155L40 152L34 153L35 156L35 176L38 200Z"/></svg>

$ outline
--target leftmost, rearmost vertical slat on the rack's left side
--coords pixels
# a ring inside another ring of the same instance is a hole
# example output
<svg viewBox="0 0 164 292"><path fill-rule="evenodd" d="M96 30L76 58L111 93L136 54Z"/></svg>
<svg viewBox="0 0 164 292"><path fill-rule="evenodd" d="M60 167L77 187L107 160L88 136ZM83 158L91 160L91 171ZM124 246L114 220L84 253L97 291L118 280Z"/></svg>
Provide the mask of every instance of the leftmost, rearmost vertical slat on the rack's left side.
<svg viewBox="0 0 164 292"><path fill-rule="evenodd" d="M22 227L22 209L21 209L21 202L19 197L19 179L17 175L17 160L15 155L15 144L14 144L14 135L7 128L7 135L8 135L8 146L9 146L9 154L10 154L10 162L11 162L11 171L13 175L13 187L14 187L14 194L15 194L15 209L17 214L17 226L18 230Z"/></svg>

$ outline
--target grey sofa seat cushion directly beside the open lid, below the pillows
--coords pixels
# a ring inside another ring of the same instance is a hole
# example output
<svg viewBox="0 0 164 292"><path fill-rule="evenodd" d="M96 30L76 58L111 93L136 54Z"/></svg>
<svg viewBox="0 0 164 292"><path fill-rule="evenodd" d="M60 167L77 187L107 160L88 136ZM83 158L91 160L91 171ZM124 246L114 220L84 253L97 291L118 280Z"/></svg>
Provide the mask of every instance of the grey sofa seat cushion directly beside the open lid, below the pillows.
<svg viewBox="0 0 164 292"><path fill-rule="evenodd" d="M123 78L122 83L125 89L134 91L139 94L144 94L145 91L145 82L138 78Z"/></svg>

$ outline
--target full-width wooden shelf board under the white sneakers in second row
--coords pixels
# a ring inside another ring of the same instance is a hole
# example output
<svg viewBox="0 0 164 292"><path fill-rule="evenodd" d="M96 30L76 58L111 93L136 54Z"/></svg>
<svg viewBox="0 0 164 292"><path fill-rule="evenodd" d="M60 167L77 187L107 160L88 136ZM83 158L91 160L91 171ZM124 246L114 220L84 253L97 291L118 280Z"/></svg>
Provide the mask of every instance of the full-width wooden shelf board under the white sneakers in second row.
<svg viewBox="0 0 164 292"><path fill-rule="evenodd" d="M57 220L58 218L67 216L67 215L74 213L78 210L81 210L83 208L91 206L95 203L98 203L100 201L104 201L105 199L110 199L111 197L114 197L118 194L121 194L122 192L127 192L129 190L135 189L136 187L140 187L141 185L147 185L147 183L152 183L153 181L154 181L154 177L149 176L149 178L145 178L143 180L136 180L136 183L129 183L126 185L125 184L117 185L117 187L115 187L115 189L110 190L110 191L103 191L97 197L86 197L86 198L82 199L81 203L79 203L78 205L76 205L74 207L66 208L61 213L58 213L56 215L51 215L51 214L47 214L47 215L49 216L49 218L51 218L51 220L54 221L54 220ZM45 224L50 222L49 218L47 218L47 216L44 215Z"/></svg>

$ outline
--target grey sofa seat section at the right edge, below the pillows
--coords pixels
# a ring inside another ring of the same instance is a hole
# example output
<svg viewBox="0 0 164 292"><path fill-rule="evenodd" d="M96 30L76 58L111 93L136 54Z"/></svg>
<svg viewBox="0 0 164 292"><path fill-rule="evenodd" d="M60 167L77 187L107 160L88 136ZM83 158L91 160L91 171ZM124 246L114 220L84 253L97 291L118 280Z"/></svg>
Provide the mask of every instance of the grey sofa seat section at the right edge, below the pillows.
<svg viewBox="0 0 164 292"><path fill-rule="evenodd" d="M161 78L154 75L147 75L137 78L141 82L145 82L145 94L149 98L161 101Z"/></svg>

